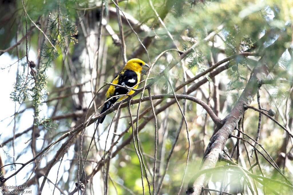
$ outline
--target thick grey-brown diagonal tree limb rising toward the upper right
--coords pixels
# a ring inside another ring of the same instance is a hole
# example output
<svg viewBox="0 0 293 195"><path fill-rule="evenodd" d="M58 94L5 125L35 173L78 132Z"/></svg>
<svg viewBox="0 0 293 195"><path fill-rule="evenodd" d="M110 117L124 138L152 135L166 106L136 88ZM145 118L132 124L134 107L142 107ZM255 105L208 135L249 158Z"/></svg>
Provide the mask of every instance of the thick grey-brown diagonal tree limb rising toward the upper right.
<svg viewBox="0 0 293 195"><path fill-rule="evenodd" d="M229 139L231 133L236 127L236 124L242 117L245 108L244 106L249 105L253 100L257 89L257 81L260 79L265 79L270 71L273 69L275 64L280 59L281 55L285 52L286 47L284 43L290 41L290 36L280 35L280 37L269 47L267 47L262 53L263 56L258 61L258 65L253 69L251 77L243 90L239 100L236 102L231 113L224 118L224 125L222 128L216 131L205 151L205 155L202 161L201 169L209 169L215 167L221 151L224 149L226 141ZM209 181L209 176L206 174L200 175L195 182L192 182L192 186L188 186L188 195L200 195L202 187Z"/></svg>

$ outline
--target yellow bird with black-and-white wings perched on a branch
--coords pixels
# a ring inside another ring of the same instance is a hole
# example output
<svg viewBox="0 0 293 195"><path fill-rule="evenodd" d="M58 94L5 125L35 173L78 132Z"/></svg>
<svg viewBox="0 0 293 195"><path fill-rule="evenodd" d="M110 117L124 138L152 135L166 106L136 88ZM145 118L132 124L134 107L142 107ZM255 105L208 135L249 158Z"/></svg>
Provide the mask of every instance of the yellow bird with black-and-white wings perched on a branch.
<svg viewBox="0 0 293 195"><path fill-rule="evenodd" d="M144 69L142 69L143 67L150 68L147 63L145 63L144 61L138 58L133 58L131 60L128 60L125 66L123 67L123 69L115 76L112 83L121 85L124 87L129 87L129 88L135 86L137 83L140 82L141 74L145 74L145 75L147 74L147 72ZM137 89L137 87L138 85L133 87L133 89ZM123 100L125 96L118 96L118 95L127 94L128 91L129 89L110 85L110 87L108 88L106 92L106 101L107 100L108 101L104 104L100 114L108 110L108 108L110 108L117 100L118 101ZM133 93L134 93L133 90L128 92L129 95ZM113 96L117 96L117 97L113 97ZM106 115L103 116L102 118L99 118L98 124L103 123L105 117Z"/></svg>

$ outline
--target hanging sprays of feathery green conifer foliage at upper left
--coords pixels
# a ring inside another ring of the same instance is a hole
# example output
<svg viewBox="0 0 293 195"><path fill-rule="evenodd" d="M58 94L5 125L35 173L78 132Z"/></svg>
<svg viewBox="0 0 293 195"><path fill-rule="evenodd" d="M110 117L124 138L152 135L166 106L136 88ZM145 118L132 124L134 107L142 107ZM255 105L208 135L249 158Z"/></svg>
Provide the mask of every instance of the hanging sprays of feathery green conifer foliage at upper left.
<svg viewBox="0 0 293 195"><path fill-rule="evenodd" d="M76 35L77 28L70 21L69 15L63 15L62 13L49 15L47 36L55 47L59 46L60 48L68 49L70 43L77 43ZM36 73L26 76L19 75L18 82L15 83L14 91L11 93L11 99L18 103L27 99L32 101L35 109L35 118L37 119L35 125L44 124L46 129L52 127L50 124L51 120L40 116L40 107L46 95L46 71L58 56L58 51L44 41L40 50L40 66L37 68ZM26 63L23 65L26 65Z"/></svg>

